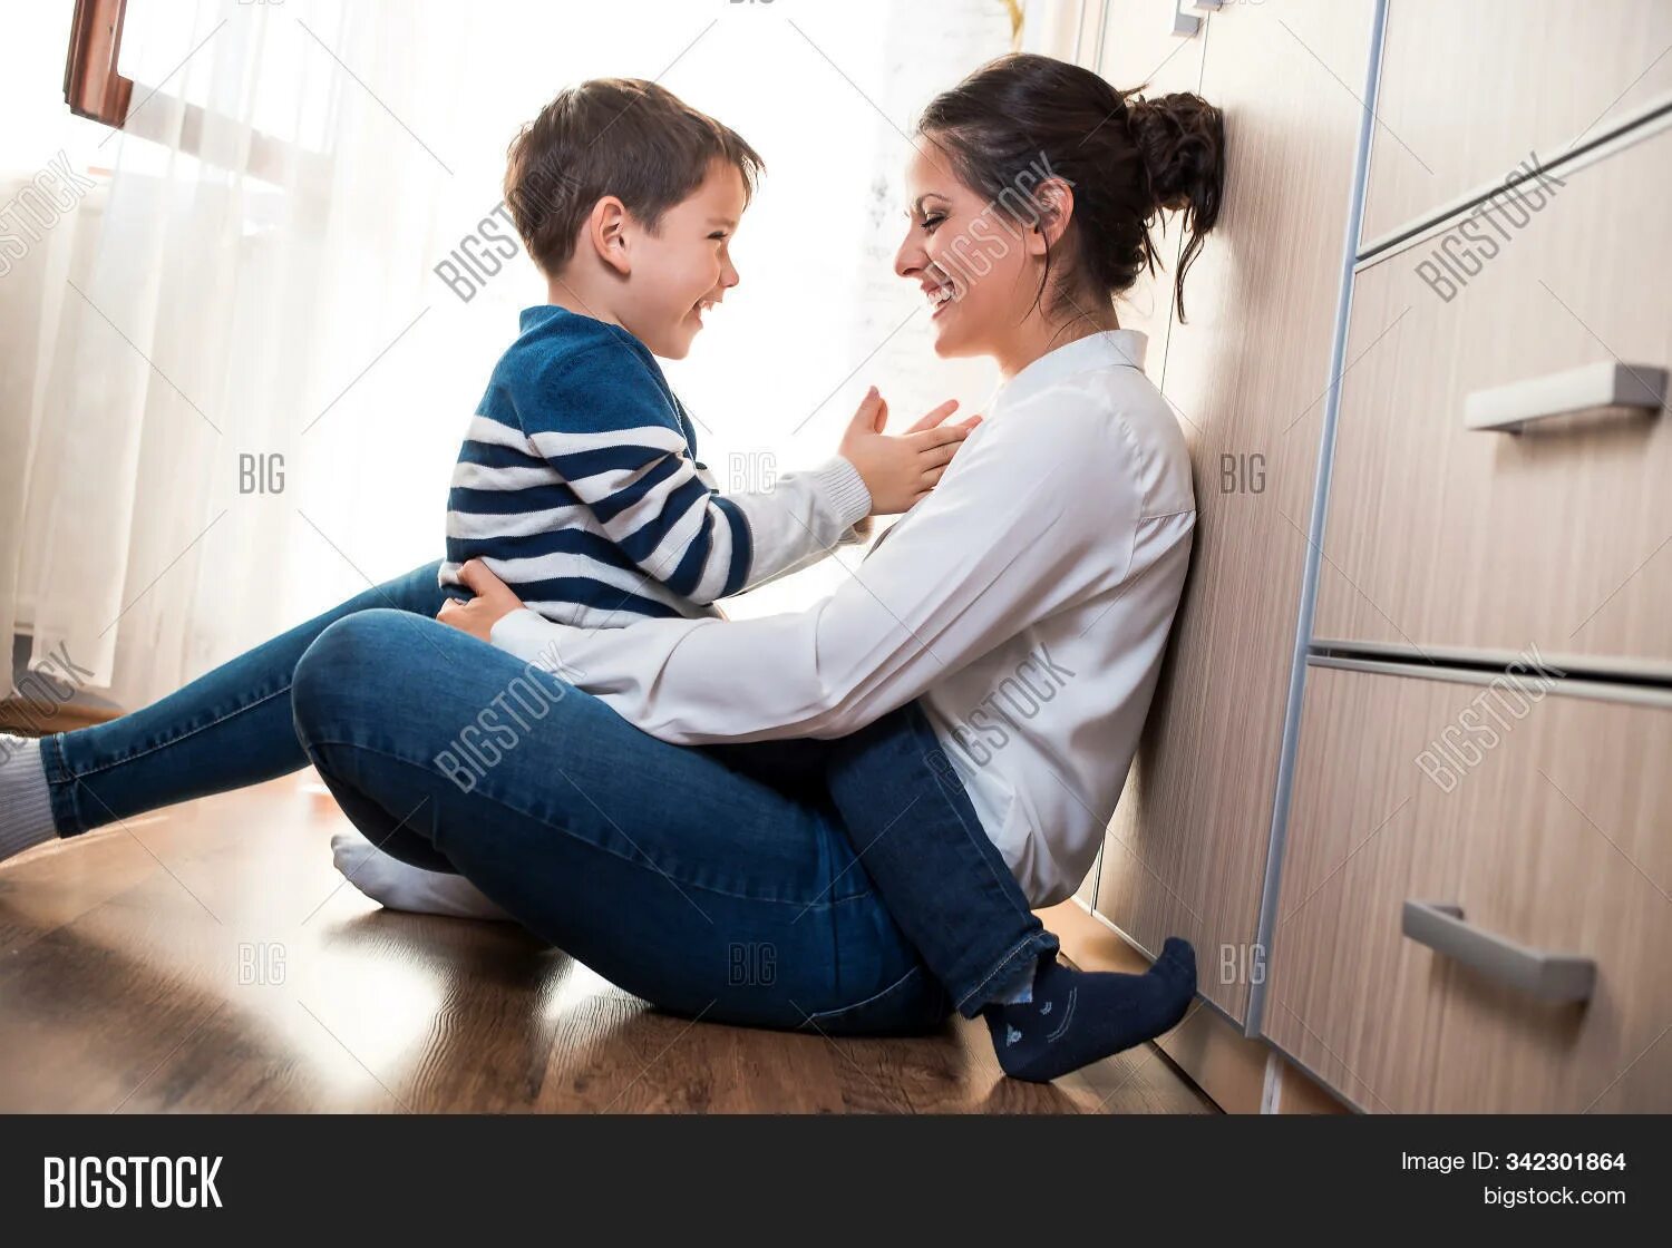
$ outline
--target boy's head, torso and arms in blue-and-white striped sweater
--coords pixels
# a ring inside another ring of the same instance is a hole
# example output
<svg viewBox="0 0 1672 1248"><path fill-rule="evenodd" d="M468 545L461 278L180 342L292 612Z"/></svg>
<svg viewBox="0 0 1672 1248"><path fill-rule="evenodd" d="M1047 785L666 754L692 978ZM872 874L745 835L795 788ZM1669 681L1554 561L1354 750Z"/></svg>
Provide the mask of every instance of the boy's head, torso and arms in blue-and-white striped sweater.
<svg viewBox="0 0 1672 1248"><path fill-rule="evenodd" d="M697 459L655 356L684 359L737 284L727 246L759 167L655 84L582 84L518 135L505 199L550 302L523 311L470 423L443 586L477 558L560 623L717 615L717 598L863 540L869 515L938 479L965 426L884 438L868 421L766 493L721 495Z"/></svg>

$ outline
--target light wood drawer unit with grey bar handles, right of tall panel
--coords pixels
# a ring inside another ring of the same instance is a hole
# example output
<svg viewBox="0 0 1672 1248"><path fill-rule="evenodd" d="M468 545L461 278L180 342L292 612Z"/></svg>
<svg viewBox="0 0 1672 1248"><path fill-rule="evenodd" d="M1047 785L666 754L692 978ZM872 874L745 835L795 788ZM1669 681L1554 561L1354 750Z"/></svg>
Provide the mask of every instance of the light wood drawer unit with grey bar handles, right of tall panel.
<svg viewBox="0 0 1672 1248"><path fill-rule="evenodd" d="M1261 1031L1371 1111L1665 1111L1672 5L1505 10L1388 7Z"/></svg>

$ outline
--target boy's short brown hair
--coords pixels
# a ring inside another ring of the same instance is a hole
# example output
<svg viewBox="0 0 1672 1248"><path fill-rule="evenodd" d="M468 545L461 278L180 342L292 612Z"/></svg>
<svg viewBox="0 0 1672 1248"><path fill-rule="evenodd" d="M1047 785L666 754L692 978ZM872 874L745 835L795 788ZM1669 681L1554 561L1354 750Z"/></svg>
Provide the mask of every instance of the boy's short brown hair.
<svg viewBox="0 0 1672 1248"><path fill-rule="evenodd" d="M615 195L647 229L691 195L716 160L754 192L764 167L736 130L640 79L592 79L558 92L512 140L505 202L547 274L575 251L580 224Z"/></svg>

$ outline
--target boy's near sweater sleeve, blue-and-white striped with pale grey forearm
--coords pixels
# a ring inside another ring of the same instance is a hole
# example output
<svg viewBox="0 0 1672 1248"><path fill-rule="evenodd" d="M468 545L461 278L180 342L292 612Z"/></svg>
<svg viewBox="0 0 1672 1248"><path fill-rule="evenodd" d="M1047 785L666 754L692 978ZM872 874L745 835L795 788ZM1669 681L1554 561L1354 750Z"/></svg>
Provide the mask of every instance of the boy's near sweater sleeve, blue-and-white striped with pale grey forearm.
<svg viewBox="0 0 1672 1248"><path fill-rule="evenodd" d="M871 511L841 456L771 493L719 495L642 366L592 349L518 396L523 433L605 535L652 580L711 603L828 555ZM562 428L557 428L562 424Z"/></svg>

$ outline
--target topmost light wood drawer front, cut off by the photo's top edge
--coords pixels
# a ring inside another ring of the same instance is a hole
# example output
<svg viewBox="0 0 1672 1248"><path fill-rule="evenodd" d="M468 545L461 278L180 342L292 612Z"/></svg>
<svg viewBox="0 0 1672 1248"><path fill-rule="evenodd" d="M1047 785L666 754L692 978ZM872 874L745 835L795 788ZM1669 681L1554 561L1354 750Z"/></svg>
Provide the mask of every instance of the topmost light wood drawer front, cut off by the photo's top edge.
<svg viewBox="0 0 1672 1248"><path fill-rule="evenodd" d="M1672 90L1665 0L1393 0L1364 200L1368 246L1605 134Z"/></svg>

